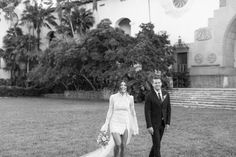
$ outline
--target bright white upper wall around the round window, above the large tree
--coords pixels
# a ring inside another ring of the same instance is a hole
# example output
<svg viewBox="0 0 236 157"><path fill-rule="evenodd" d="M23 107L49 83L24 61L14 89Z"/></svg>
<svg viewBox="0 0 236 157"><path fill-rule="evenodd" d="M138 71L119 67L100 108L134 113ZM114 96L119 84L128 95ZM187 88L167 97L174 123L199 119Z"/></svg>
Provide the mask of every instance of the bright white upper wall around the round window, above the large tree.
<svg viewBox="0 0 236 157"><path fill-rule="evenodd" d="M179 36L185 43L194 41L194 30L207 26L208 18L213 17L213 10L219 7L218 0L191 0L194 1L189 10L181 16L171 16L161 5L161 1L169 0L150 0L150 10L148 0L101 0L98 1L98 11L96 18L109 18L113 26L121 18L131 20L131 35L139 32L140 24L149 22L155 25L155 31L167 31L171 43L178 41ZM206 5L207 4L207 5ZM92 8L92 5L86 5Z"/></svg>

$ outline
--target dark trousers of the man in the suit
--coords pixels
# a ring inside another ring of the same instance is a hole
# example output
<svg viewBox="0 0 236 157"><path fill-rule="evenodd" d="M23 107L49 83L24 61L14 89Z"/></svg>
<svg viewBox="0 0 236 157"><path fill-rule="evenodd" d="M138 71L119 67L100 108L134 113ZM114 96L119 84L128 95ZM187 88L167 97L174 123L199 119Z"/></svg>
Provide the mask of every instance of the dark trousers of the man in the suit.
<svg viewBox="0 0 236 157"><path fill-rule="evenodd" d="M153 126L153 129L154 129L154 133L152 135L153 145L149 157L161 157L160 149L161 149L161 139L165 129L164 121L162 120L162 124L159 127Z"/></svg>

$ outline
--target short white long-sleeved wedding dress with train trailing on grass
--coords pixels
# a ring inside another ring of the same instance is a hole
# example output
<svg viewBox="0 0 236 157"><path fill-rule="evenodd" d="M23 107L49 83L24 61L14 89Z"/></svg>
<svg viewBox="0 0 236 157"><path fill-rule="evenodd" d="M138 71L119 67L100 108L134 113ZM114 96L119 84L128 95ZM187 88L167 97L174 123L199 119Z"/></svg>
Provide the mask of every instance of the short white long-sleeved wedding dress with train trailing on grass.
<svg viewBox="0 0 236 157"><path fill-rule="evenodd" d="M123 134L125 129L128 130L128 140L126 144L129 144L132 135L138 134L134 98L129 94L121 95L118 92L110 96L106 121L102 126L101 131L110 130L110 134L112 132ZM110 137L107 146L101 147L81 157L112 157L115 143L112 135L110 135Z"/></svg>

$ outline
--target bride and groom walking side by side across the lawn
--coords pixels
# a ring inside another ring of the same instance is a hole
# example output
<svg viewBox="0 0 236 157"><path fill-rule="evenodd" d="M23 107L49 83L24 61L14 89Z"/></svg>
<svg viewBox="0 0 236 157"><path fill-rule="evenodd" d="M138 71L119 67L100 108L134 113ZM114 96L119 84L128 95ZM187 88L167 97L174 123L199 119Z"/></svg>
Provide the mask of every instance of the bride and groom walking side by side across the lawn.
<svg viewBox="0 0 236 157"><path fill-rule="evenodd" d="M153 88L146 95L144 109L147 130L153 143L149 157L161 157L161 139L164 130L168 129L170 125L170 96L167 91L161 88L160 77L154 76L151 83ZM134 98L127 93L125 81L121 81L119 91L110 96L106 121L101 131L110 133L111 138L108 145L83 157L124 157L125 148L132 135L139 133Z"/></svg>

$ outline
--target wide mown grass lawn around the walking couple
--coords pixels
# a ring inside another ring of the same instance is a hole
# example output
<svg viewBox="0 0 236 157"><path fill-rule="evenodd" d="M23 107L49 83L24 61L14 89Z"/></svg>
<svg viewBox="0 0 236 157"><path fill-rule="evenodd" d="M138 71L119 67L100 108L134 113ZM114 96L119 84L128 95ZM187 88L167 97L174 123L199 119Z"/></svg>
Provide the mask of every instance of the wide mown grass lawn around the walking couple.
<svg viewBox="0 0 236 157"><path fill-rule="evenodd" d="M0 98L1 157L79 157L98 148L107 102ZM143 104L135 106L140 134L127 157L148 157L151 137ZM236 111L172 107L163 157L235 157Z"/></svg>

